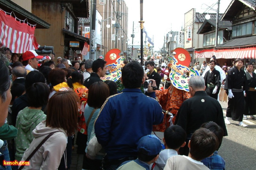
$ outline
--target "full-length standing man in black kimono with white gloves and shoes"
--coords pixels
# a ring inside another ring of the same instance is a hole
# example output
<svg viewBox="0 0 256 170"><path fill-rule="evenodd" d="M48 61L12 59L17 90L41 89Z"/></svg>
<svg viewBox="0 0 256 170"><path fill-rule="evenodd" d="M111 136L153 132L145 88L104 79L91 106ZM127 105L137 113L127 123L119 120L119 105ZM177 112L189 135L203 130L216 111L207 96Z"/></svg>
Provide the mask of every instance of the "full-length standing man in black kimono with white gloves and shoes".
<svg viewBox="0 0 256 170"><path fill-rule="evenodd" d="M244 115L244 96L245 90L248 90L248 83L246 80L245 72L241 69L243 62L241 58L235 60L235 67L227 72L225 87L229 101L227 102L227 113L225 123L230 124L229 119L238 121L241 127L248 127L242 122Z"/></svg>

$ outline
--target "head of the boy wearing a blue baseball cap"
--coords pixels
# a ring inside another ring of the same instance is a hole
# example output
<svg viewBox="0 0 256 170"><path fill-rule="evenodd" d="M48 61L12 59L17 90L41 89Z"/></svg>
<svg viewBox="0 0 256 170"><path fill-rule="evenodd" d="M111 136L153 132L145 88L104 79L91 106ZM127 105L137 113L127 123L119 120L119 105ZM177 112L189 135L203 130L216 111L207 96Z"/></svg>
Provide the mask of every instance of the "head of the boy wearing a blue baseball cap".
<svg viewBox="0 0 256 170"><path fill-rule="evenodd" d="M153 163L157 161L162 150L162 144L157 136L147 135L140 138L137 150L140 161Z"/></svg>

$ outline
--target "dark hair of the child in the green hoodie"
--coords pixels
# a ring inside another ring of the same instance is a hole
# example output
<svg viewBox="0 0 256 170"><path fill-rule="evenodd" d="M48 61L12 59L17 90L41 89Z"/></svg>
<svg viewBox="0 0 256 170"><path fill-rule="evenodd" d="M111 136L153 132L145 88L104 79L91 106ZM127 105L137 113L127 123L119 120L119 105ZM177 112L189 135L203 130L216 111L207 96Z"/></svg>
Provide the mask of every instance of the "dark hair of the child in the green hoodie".
<svg viewBox="0 0 256 170"><path fill-rule="evenodd" d="M31 107L42 107L47 104L50 90L45 83L38 82L26 89L27 99Z"/></svg>

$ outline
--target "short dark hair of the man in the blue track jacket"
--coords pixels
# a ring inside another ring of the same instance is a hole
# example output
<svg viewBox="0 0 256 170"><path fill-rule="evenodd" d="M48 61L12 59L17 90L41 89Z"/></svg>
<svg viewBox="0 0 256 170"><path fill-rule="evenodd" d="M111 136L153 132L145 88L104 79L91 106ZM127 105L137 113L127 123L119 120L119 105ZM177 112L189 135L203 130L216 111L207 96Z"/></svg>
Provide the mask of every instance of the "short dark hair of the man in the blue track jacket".
<svg viewBox="0 0 256 170"><path fill-rule="evenodd" d="M122 81L125 88L140 88L143 77L144 70L138 62L129 62L122 69Z"/></svg>

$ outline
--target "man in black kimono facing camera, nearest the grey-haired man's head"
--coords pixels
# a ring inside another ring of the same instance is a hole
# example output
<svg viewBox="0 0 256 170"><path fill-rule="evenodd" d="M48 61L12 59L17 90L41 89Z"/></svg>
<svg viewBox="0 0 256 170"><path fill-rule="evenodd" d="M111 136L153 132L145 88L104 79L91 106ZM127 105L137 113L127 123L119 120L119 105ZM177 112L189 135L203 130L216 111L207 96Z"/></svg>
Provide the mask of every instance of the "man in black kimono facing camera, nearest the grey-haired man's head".
<svg viewBox="0 0 256 170"><path fill-rule="evenodd" d="M221 89L221 74L215 69L216 61L209 63L210 70L204 75L206 94L218 100L219 89Z"/></svg>

